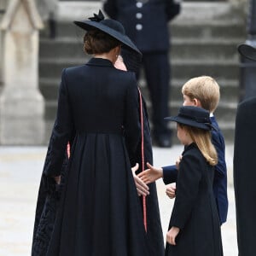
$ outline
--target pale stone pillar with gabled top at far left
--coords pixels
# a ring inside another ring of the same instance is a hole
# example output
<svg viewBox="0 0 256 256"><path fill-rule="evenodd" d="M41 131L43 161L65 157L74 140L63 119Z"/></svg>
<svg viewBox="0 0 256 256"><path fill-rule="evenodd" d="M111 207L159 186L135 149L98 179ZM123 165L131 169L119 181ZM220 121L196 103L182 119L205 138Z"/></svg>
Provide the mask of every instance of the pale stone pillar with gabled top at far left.
<svg viewBox="0 0 256 256"><path fill-rule="evenodd" d="M38 30L43 22L34 0L10 0L3 31L3 92L0 143L44 142L44 98L38 90Z"/></svg>

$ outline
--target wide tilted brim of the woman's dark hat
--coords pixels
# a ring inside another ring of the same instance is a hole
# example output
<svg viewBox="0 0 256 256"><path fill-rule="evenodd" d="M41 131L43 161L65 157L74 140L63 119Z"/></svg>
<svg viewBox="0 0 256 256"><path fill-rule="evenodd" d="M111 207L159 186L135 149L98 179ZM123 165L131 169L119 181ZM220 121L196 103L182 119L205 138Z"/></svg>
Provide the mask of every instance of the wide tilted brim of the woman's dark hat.
<svg viewBox="0 0 256 256"><path fill-rule="evenodd" d="M131 39L126 35L121 34L118 31L113 30L111 27L104 26L100 22L92 21L92 20L83 20L83 21L73 21L75 25L83 28L85 31L90 31L91 29L97 28L102 32L107 33L111 37L117 39L124 47L128 49L132 49L137 52L138 55L142 55L141 51L137 49L137 46L132 43Z"/></svg>

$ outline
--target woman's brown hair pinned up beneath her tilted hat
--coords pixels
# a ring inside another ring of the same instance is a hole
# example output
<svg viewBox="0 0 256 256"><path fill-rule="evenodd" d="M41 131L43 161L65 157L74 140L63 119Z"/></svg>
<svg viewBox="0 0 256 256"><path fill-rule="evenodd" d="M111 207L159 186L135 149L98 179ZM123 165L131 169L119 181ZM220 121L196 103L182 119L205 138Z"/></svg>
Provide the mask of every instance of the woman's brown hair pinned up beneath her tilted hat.
<svg viewBox="0 0 256 256"><path fill-rule="evenodd" d="M107 53L121 43L98 29L90 30L84 35L84 52L89 55Z"/></svg>

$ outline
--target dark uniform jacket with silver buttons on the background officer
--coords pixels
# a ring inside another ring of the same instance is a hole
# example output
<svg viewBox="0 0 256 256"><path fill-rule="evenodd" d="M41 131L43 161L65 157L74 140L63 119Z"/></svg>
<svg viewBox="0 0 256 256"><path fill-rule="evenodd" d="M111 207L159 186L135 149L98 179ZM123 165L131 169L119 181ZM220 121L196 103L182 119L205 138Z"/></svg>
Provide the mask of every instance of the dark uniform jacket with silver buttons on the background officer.
<svg viewBox="0 0 256 256"><path fill-rule="evenodd" d="M143 2L143 1L142 1ZM179 13L171 0L107 0L103 8L125 26L125 32L142 52L169 49L168 21Z"/></svg>

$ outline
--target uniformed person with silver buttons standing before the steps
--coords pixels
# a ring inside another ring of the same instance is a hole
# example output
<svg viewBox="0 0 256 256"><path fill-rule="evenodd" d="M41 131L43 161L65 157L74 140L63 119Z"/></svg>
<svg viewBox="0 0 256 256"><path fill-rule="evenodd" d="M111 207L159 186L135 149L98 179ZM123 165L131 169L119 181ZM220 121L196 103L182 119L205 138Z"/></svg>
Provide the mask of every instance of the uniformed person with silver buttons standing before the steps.
<svg viewBox="0 0 256 256"><path fill-rule="evenodd" d="M127 35L143 53L142 64L152 103L154 143L170 147L171 131L164 120L169 115L168 21L179 13L180 5L169 0L106 0L103 7L111 18L121 21Z"/></svg>

